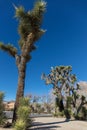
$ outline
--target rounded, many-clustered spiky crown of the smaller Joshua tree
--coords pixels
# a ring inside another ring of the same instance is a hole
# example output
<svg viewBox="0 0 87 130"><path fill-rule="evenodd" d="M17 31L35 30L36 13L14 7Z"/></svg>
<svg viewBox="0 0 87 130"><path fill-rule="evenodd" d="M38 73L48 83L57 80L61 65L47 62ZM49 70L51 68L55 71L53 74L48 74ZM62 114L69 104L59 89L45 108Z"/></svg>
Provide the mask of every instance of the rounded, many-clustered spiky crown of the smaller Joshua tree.
<svg viewBox="0 0 87 130"><path fill-rule="evenodd" d="M71 66L56 66L51 68L49 75L42 75L42 79L45 80L46 84L52 84L54 88L54 94L58 95L59 93L70 94L70 91L74 91L76 82L76 76L71 74Z"/></svg>

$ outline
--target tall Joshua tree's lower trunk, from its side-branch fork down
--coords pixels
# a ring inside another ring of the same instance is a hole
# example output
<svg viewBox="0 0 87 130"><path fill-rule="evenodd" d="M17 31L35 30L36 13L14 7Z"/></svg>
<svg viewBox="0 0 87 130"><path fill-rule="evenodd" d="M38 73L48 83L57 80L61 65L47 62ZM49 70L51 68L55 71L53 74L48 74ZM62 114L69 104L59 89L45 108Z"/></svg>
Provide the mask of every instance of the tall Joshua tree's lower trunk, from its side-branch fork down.
<svg viewBox="0 0 87 130"><path fill-rule="evenodd" d="M17 57L17 60L20 57ZM17 94L16 94L16 101L15 101L15 107L14 107L14 114L13 114L13 122L16 121L17 119L17 108L19 106L19 100L21 97L24 96L24 86L25 86L25 74L26 74L26 58L21 57L19 59L18 65L18 89L17 89Z"/></svg>

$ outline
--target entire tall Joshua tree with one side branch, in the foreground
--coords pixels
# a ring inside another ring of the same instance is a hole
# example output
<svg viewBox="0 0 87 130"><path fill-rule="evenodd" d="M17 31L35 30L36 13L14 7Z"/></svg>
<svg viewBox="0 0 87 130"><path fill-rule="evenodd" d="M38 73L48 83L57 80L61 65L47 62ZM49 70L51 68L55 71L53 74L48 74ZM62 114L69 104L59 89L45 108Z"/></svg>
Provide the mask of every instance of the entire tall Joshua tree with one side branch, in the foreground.
<svg viewBox="0 0 87 130"><path fill-rule="evenodd" d="M19 99L24 96L25 74L27 62L31 59L31 52L36 49L35 42L45 33L41 29L43 15L46 10L46 2L38 0L30 11L20 7L15 7L15 17L19 20L18 32L20 40L20 54L18 49L11 44L0 42L0 49L10 54L16 60L18 68L18 89L16 95L13 120L16 120L16 109L19 106Z"/></svg>

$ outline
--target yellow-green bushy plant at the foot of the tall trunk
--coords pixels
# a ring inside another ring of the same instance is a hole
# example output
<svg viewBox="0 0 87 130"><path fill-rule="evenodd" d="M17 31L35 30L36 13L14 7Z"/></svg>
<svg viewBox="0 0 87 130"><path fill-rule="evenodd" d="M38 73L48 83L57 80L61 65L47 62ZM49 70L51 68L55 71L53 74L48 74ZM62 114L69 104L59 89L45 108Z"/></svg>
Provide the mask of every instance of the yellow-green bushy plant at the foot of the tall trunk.
<svg viewBox="0 0 87 130"><path fill-rule="evenodd" d="M15 130L26 130L31 125L29 115L31 113L29 98L20 99L19 108L17 110L17 121L15 122Z"/></svg>

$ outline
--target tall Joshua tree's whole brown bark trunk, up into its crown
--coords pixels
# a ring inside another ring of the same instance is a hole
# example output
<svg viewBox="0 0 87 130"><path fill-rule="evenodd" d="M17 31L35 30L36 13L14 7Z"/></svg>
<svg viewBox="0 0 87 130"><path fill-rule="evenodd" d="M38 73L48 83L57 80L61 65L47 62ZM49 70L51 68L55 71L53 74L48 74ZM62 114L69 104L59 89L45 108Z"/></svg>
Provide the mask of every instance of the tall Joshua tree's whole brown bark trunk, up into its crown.
<svg viewBox="0 0 87 130"><path fill-rule="evenodd" d="M21 51L21 55L15 55L16 65L18 67L18 88L16 94L16 101L13 113L13 120L15 122L17 119L17 108L19 107L19 100L24 96L24 87L25 87L25 75L26 75L26 64L27 56L30 53L33 46L33 34L30 33L26 42L24 43Z"/></svg>

